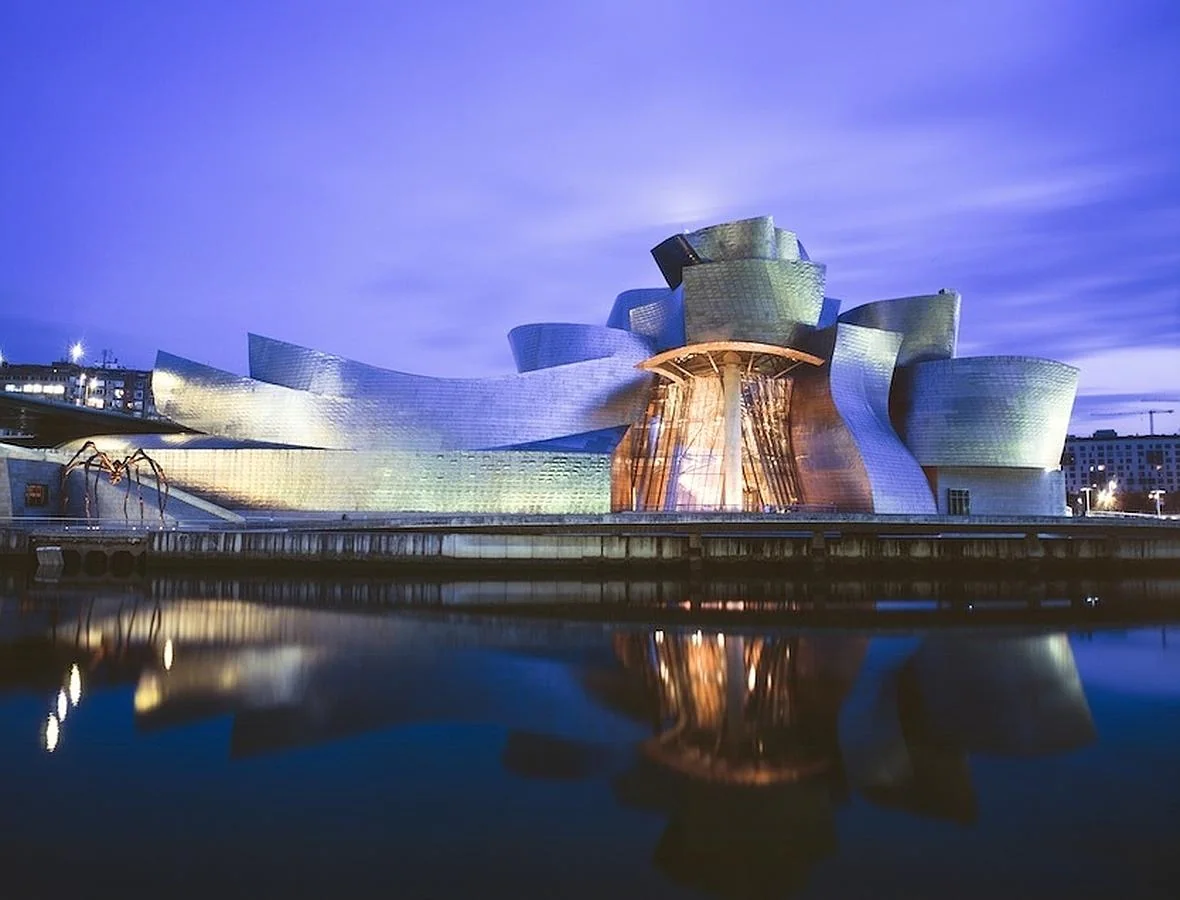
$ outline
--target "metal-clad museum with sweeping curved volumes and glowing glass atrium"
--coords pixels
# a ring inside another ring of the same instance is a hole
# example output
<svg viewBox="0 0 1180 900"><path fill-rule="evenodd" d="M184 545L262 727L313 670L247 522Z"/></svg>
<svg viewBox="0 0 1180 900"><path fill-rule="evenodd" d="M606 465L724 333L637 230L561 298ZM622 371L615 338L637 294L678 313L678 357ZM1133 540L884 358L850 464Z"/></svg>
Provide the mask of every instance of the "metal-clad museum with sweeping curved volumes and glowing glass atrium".
<svg viewBox="0 0 1180 900"><path fill-rule="evenodd" d="M512 329L514 374L250 335L249 377L158 354L157 409L189 433L91 440L229 511L1064 514L1077 370L958 356L957 293L841 313L769 216L651 255L667 287L605 324Z"/></svg>

